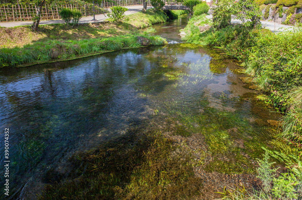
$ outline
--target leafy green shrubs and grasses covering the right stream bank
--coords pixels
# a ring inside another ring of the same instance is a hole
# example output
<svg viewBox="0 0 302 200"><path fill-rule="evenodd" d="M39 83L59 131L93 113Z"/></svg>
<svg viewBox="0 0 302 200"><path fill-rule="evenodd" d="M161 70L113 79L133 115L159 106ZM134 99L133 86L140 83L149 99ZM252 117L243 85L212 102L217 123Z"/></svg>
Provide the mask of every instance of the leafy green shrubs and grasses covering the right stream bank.
<svg viewBox="0 0 302 200"><path fill-rule="evenodd" d="M271 136L275 137L281 145L277 151L268 150L268 153L284 162L289 169L294 170L292 167L300 169L302 163L302 33L275 34L268 29L249 30L242 25L230 25L216 31L210 29L200 32L194 25L194 22L200 20L194 17L190 19L184 29L186 35L183 39L194 44L220 47L227 56L243 62L242 66L245 66L245 69L242 73L252 76L256 87L266 94L261 95L259 100L273 105L276 112L283 114L280 122L277 123L278 128L271 130ZM297 163L300 164L297 165ZM271 164L268 160L262 164L260 165L262 170L269 170ZM293 172L291 170L288 171L289 174ZM270 172L270 175L265 177L269 180L269 186L265 185L265 182L263 185L271 187L270 184L273 182L273 197L280 195L280 199L292 199L295 195L301 194L299 193L301 191L299 187L302 188L300 172L296 170L296 176L293 178L286 174L279 176L278 179L273 179L274 175ZM283 185L283 182L297 185L296 189L294 187L285 189L287 186ZM298 182L300 183L297 184ZM226 199L239 199L239 196L234 198L235 193L236 191L234 194L226 193L224 196ZM242 193L244 192L237 191L237 195Z"/></svg>

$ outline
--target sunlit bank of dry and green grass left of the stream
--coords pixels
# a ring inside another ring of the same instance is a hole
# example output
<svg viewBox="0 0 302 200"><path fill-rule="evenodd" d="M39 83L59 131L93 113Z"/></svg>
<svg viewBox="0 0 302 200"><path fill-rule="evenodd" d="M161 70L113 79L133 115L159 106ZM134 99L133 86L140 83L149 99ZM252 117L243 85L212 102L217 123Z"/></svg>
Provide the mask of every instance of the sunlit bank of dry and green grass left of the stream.
<svg viewBox="0 0 302 200"><path fill-rule="evenodd" d="M66 60L122 48L165 44L165 39L139 34L139 28L165 22L164 13L149 9L128 15L129 21L119 24L79 24L72 29L64 24L40 25L34 32L30 26L0 28L0 66ZM137 36L148 43L140 44ZM11 48L13 47L13 48Z"/></svg>

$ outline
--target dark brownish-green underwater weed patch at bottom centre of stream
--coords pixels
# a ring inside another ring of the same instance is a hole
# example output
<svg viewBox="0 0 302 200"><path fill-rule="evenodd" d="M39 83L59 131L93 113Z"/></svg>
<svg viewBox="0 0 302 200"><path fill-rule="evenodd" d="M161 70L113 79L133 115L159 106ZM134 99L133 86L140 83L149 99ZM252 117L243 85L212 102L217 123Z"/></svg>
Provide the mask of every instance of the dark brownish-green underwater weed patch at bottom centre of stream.
<svg viewBox="0 0 302 200"><path fill-rule="evenodd" d="M47 185L38 199L187 199L201 180L188 156L171 156L175 148L160 132L132 130L76 155L77 176Z"/></svg>

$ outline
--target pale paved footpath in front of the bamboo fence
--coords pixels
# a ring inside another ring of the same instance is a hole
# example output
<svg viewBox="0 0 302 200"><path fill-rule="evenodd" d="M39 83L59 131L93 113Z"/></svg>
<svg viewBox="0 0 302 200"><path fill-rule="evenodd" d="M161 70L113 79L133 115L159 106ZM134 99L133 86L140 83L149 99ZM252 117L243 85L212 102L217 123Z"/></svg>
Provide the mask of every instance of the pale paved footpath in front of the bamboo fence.
<svg viewBox="0 0 302 200"><path fill-rule="evenodd" d="M130 15L133 13L137 13L139 11L142 11L143 6L142 5L130 5L130 6L124 6L125 8L128 8L129 10L125 12L125 15ZM151 6L148 6L147 9L153 8ZM108 11L111 12L111 10L108 8ZM107 15L99 14L95 15L95 19L98 21L104 21L107 19ZM89 17L83 17L80 19L79 24L84 23L96 23L92 21L93 16ZM98 22L97 21L97 22ZM41 20L39 24L58 24L58 23L65 23L61 19L54 19L54 20ZM10 21L10 22L2 22L0 23L0 26L2 27L15 27L15 26L23 26L23 25L31 25L33 24L32 21Z"/></svg>

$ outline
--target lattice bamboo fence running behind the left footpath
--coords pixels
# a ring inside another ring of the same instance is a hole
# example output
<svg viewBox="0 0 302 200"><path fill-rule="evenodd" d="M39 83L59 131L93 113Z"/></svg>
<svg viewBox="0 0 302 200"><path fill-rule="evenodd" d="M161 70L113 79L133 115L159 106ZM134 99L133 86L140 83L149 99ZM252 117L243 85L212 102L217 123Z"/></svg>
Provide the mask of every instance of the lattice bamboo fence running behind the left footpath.
<svg viewBox="0 0 302 200"><path fill-rule="evenodd" d="M127 6L127 5L142 5L143 0L113 0L110 2L104 2L103 4L95 4L95 6L99 8L109 8L112 6ZM147 0L147 5L150 6L150 0ZM41 19L59 19L59 11L62 8L71 8L71 9L78 9L82 16L91 16L93 15L93 8L92 5L88 4L65 4L65 5L44 5L41 10ZM26 21L31 20L34 18L34 14L36 12L34 4L0 4L0 21ZM102 14L104 10L95 9L95 14Z"/></svg>

